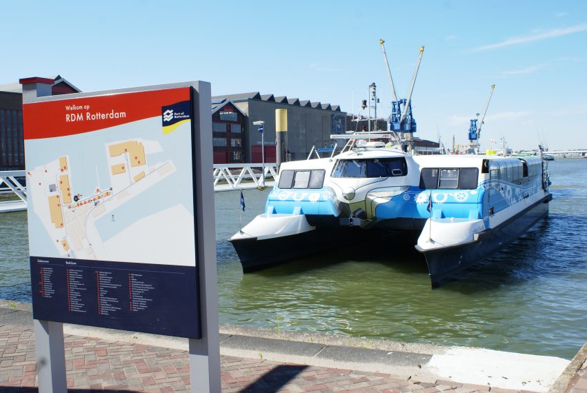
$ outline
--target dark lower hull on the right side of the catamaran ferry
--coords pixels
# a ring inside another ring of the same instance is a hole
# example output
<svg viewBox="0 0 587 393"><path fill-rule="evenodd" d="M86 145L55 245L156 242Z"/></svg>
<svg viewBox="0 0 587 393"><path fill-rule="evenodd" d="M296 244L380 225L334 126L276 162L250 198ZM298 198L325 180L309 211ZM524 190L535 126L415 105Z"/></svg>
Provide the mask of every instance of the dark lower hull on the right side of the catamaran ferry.
<svg viewBox="0 0 587 393"><path fill-rule="evenodd" d="M423 250L416 246L416 249L426 257L432 288L438 287L455 274L518 239L521 234L548 215L548 202L552 198L552 194L548 194L499 227L479 233L477 241L435 250Z"/></svg>

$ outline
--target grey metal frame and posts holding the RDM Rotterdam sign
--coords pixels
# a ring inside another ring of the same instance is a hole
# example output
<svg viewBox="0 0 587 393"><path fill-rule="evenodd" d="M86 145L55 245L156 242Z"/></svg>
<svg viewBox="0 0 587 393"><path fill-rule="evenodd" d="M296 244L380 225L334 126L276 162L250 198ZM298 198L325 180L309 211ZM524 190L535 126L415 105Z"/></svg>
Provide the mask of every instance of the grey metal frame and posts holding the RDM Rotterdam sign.
<svg viewBox="0 0 587 393"><path fill-rule="evenodd" d="M190 89L190 105L192 109L192 197L194 202L195 252L197 257L195 270L195 280L197 282L195 285L199 292L201 334L201 339L188 338L191 390L192 392L219 391L217 263L214 190L210 170L212 168L210 83L192 81L50 97L41 97L50 94L50 90L46 89L42 82L39 83L35 79L24 79L21 80L21 83L23 83L23 122L25 132L27 123L32 121L27 117L26 108L28 104L101 96L117 97L128 93L154 92L156 90L177 88ZM29 212L29 214L32 213ZM37 340L39 392L59 392L66 389L63 323L51 321L50 319L34 320L34 332Z"/></svg>

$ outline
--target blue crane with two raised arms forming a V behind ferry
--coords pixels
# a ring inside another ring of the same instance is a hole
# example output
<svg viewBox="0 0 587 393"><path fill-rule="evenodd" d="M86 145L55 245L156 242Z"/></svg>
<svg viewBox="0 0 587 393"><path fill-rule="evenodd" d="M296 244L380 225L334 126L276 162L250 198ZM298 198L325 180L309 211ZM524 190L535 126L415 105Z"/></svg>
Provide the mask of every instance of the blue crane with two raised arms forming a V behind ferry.
<svg viewBox="0 0 587 393"><path fill-rule="evenodd" d="M379 39L379 45L381 45L381 51L384 55L389 83L391 85L391 94L393 97L393 101L391 103L391 116L389 119L390 130L398 132L401 139L408 141L408 143L410 143L410 148L413 148L411 145L412 134L416 132L416 120L412 117L412 92L414 91L416 77L420 68L420 61L422 60L422 54L424 53L424 46L420 47L420 53L416 63L416 68L414 70L414 76L412 77L412 83L410 84L410 90L408 91L408 98L397 99L384 43L385 41L383 39Z"/></svg>

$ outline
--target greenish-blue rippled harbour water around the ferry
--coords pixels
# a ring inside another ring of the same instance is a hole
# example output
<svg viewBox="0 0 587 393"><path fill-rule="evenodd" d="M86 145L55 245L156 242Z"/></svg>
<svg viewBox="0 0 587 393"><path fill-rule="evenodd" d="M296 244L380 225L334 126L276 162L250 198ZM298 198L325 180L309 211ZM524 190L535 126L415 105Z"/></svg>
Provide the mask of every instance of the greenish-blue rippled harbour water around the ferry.
<svg viewBox="0 0 587 393"><path fill-rule="evenodd" d="M218 192L220 322L571 359L587 341L587 159L550 164L550 216L431 290L411 245L357 243L243 275L226 241L268 190ZM0 299L30 301L26 212L0 214ZM300 245L303 247L303 245Z"/></svg>

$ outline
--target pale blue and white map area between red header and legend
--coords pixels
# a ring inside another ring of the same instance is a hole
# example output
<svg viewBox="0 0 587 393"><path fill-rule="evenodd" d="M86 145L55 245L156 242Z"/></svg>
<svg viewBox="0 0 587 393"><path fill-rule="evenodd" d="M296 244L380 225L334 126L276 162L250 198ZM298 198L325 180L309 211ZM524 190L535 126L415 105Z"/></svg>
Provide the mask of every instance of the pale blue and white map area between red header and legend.
<svg viewBox="0 0 587 393"><path fill-rule="evenodd" d="M151 117L28 140L30 254L195 265L191 125L165 131Z"/></svg>

